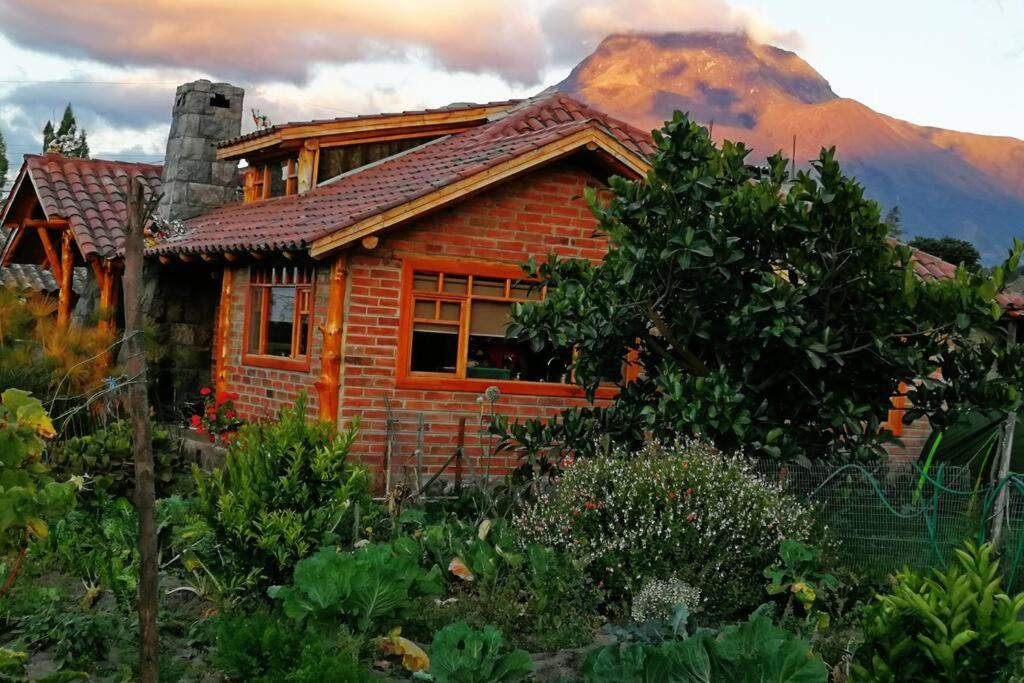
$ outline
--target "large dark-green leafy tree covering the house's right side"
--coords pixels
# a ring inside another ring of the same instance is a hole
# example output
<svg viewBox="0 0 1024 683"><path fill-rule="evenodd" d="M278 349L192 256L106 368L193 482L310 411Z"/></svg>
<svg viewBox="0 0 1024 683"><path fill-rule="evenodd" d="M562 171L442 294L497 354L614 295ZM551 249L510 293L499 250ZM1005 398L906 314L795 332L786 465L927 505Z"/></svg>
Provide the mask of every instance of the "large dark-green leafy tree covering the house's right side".
<svg viewBox="0 0 1024 683"><path fill-rule="evenodd" d="M586 441L699 433L752 455L866 460L891 438L882 425L901 381L908 415L938 426L967 405L1017 404L1021 354L1004 349L994 296L1024 245L990 278L922 282L834 150L791 176L781 155L752 166L741 143L718 148L681 114L654 139L646 179L612 178L610 203L589 194L609 240L600 264L525 266L549 294L515 307L511 337L574 348L591 393L631 353L641 370L609 408L561 424ZM989 377L993 366L1005 374ZM936 371L946 382L914 384ZM498 424L520 442L543 432L529 426Z"/></svg>

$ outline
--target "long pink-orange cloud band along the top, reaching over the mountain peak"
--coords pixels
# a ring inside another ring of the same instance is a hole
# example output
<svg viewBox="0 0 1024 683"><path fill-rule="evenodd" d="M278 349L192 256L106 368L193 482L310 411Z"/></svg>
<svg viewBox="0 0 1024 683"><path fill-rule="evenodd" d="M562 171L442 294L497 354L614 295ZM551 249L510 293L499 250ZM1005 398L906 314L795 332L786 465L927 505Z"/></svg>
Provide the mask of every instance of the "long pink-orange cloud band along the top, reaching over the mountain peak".
<svg viewBox="0 0 1024 683"><path fill-rule="evenodd" d="M305 85L323 65L413 58L539 85L610 33L693 30L792 39L727 0L0 0L0 32L22 47L249 85Z"/></svg>

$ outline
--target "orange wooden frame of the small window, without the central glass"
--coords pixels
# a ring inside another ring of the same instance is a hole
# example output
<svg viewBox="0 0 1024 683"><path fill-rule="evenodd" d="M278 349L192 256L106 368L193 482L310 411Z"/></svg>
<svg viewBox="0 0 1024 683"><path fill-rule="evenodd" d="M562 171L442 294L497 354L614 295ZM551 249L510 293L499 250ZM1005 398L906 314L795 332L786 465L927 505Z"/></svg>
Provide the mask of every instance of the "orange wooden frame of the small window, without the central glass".
<svg viewBox="0 0 1024 683"><path fill-rule="evenodd" d="M291 355L288 356L270 355L266 353L267 328L270 322L269 290L284 287L295 289L295 308L292 311L292 350ZM253 310L253 292L256 290L263 291L263 294L259 298L260 310L258 313ZM246 311L242 335L242 362L257 368L309 372L312 361L315 300L316 269L314 267L301 265L250 267L249 287L246 288ZM259 350L257 352L249 350L251 348L250 334L252 330L252 316L254 314L259 314L260 316ZM302 355L297 355L296 349L298 348L303 327L300 322L303 315L306 316L306 352Z"/></svg>

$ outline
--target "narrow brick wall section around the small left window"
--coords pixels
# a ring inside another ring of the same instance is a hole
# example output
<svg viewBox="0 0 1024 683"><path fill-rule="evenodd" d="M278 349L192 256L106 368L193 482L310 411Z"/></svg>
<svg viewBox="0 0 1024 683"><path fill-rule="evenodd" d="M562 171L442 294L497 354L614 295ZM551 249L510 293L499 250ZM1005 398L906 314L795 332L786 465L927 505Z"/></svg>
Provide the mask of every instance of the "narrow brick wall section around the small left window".
<svg viewBox="0 0 1024 683"><path fill-rule="evenodd" d="M321 348L324 337L316 330L317 323L323 321L327 308L328 273L330 266L321 264L316 267L316 285L313 291L314 315L313 335L311 339L312 362L308 372L274 370L257 368L242 362L243 327L246 319L246 294L249 285L249 267L231 268L231 325L228 334L227 347L227 390L239 394L234 401L240 416L246 420L259 420L273 417L282 408L295 402L299 391L305 391L308 396L306 414L316 417L319 401L313 382L319 377Z"/></svg>

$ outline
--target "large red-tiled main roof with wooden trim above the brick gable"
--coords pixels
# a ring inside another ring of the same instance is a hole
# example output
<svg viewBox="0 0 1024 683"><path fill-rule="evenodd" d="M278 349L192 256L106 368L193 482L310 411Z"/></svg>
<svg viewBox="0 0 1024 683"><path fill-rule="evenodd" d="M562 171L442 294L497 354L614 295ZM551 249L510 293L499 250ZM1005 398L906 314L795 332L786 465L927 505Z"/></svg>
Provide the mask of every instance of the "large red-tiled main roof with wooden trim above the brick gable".
<svg viewBox="0 0 1024 683"><path fill-rule="evenodd" d="M508 176L499 167L538 151L556 158L587 144L614 147L622 153L620 158L628 157L637 165L653 152L649 134L567 95L552 93L523 100L477 128L355 169L302 195L231 204L190 218L183 233L148 253L309 249L318 239L467 179L500 181ZM402 219L415 215L411 211Z"/></svg>

